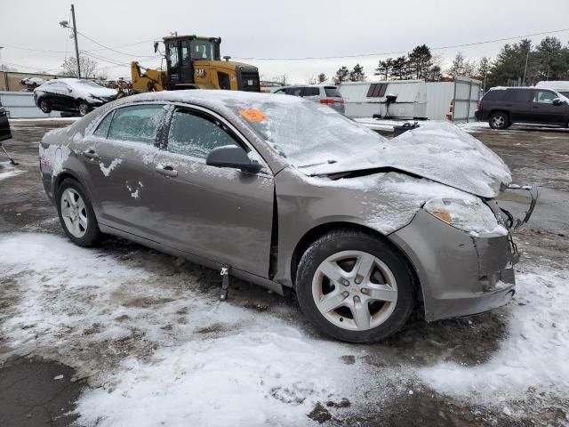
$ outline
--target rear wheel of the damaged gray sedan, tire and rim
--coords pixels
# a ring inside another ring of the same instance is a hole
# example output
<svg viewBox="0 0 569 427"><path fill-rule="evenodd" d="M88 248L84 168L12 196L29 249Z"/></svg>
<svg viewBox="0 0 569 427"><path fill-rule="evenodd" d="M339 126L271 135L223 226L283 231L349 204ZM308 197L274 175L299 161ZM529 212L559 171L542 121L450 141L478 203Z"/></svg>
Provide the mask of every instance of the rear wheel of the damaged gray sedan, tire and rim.
<svg viewBox="0 0 569 427"><path fill-rule="evenodd" d="M81 184L72 178L61 182L55 197L61 227L78 246L93 246L100 238L99 223Z"/></svg>

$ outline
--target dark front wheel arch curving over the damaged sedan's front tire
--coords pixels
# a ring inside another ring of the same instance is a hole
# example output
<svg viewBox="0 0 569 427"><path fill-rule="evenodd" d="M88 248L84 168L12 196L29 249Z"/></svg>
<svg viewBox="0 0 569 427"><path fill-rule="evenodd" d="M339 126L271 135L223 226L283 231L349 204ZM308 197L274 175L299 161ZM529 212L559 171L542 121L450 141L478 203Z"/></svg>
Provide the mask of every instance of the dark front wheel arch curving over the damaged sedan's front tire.
<svg viewBox="0 0 569 427"><path fill-rule="evenodd" d="M325 234L328 234L335 230L353 230L365 233L367 235L373 236L373 238L378 238L382 242L385 242L394 252L401 255L401 259L404 260L407 269L411 271L413 276L413 285L416 290L421 290L421 283L419 280L419 275L415 269L413 262L405 254L405 252L396 244L394 244L389 238L379 232L378 230L373 230L372 228L366 227L365 225L358 224L356 222L325 222L323 224L318 224L312 229L308 230L299 242L296 244L293 250L293 255L291 259L291 280L293 282L293 288L296 287L296 272L298 270L299 262L301 262L302 254L306 252L309 246L321 238ZM417 293L421 295L421 293Z"/></svg>

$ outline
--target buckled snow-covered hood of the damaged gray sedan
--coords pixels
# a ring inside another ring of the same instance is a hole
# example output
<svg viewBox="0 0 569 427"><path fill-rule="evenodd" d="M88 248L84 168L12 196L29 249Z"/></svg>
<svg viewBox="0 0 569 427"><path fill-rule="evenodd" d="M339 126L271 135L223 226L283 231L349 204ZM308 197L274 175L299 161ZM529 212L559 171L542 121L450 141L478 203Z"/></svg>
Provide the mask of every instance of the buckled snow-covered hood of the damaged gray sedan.
<svg viewBox="0 0 569 427"><path fill-rule="evenodd" d="M511 182L498 155L447 122L422 124L377 148L302 172L316 176L377 169L411 173L486 198L498 196Z"/></svg>

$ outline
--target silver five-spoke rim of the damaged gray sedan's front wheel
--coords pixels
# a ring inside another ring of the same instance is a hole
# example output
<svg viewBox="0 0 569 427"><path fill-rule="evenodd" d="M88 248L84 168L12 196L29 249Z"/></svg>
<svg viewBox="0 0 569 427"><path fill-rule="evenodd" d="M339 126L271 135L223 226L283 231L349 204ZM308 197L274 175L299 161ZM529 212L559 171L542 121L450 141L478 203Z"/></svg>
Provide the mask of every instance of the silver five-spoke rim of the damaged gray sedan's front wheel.
<svg viewBox="0 0 569 427"><path fill-rule="evenodd" d="M320 263L312 296L333 325L365 331L380 326L395 310L397 282L389 267L372 254L342 251Z"/></svg>

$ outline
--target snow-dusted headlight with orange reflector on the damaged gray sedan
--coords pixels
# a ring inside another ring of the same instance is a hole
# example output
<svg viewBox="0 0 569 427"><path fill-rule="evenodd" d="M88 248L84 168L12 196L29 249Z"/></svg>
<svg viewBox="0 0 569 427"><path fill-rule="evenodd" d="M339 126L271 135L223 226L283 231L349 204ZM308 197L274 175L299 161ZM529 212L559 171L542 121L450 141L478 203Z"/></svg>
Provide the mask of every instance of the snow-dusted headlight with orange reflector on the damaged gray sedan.
<svg viewBox="0 0 569 427"><path fill-rule="evenodd" d="M454 199L435 198L424 206L429 214L453 227L468 232L473 236L479 234L507 235L508 230L502 227L492 209L479 198Z"/></svg>

